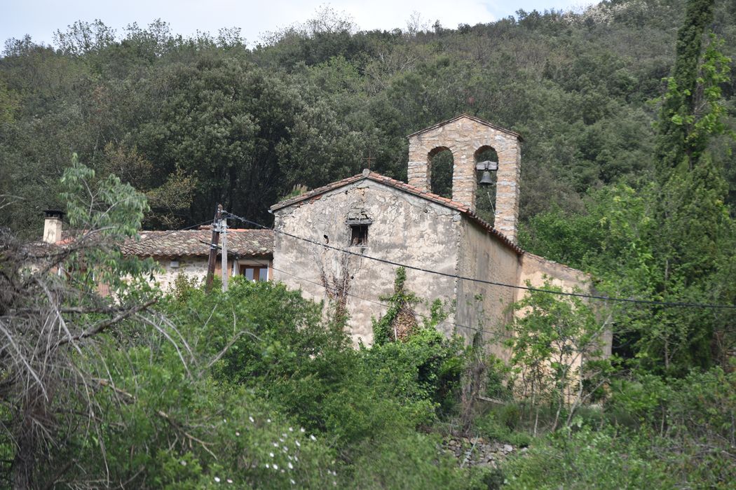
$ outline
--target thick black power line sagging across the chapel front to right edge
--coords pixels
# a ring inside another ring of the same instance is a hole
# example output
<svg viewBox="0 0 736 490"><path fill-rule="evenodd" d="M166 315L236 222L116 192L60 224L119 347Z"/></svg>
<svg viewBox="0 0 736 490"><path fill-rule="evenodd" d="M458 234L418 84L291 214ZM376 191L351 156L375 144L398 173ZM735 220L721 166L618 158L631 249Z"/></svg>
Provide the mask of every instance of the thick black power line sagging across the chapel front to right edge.
<svg viewBox="0 0 736 490"><path fill-rule="evenodd" d="M459 279L461 281L471 281L471 282L477 282L480 284L488 284L490 286L499 286L499 287L507 287L511 289L523 289L524 291L531 291L531 292L545 292L551 295L559 295L559 296L571 296L574 298L586 298L590 300L602 300L602 301L612 301L616 303L634 303L634 304L644 304L644 305L650 305L650 306L666 306L666 307L679 307L679 308L708 308L708 309L736 309L735 305L723 305L723 304L712 304L712 303L687 303L687 302L681 302L681 301L658 301L658 300L638 300L634 298L616 298L612 296L602 296L602 295L586 295L581 292L566 292L566 291L553 291L551 289L543 289L539 287L530 287L530 286L519 286L518 284L506 284L498 281L489 281L487 279L479 279L479 278L471 278L464 275L458 275L458 274L452 274L452 273L444 273L439 270L431 270L431 269L425 269L424 267L417 267L415 265L409 265L409 264L402 264L400 262L394 262L389 259L381 259L380 257L374 257L369 255L364 255L363 253L358 253L350 250L346 250L344 248L334 247L333 245L328 245L326 243L318 242L313 239L305 238L305 237L299 237L297 235L291 234L287 231L283 230L277 230L275 228L268 228L267 226L261 225L261 223L256 223L255 221L247 220L244 217L233 215L233 213L227 212L228 217L232 217L236 220L241 220L243 223L249 223L253 226L258 226L259 228L263 228L266 230L275 231L276 233L286 235L287 237L291 237L294 239L300 239L304 242L311 243L313 245L319 245L321 247L329 248L330 250L339 251L342 253L347 253L349 255L354 255L358 257L362 257L364 259L369 260L375 260L376 262L383 262L384 264L394 265L396 267L404 267L406 269L411 270L417 270L418 272L422 273L429 273L429 274L436 274L436 275L443 275L445 277Z"/></svg>

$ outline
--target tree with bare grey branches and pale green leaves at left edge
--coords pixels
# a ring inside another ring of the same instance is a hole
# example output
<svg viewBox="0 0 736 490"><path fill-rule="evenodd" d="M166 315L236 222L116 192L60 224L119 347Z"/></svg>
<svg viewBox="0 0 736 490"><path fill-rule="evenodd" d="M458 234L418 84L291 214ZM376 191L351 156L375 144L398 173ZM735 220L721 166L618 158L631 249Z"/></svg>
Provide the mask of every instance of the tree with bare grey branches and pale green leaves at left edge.
<svg viewBox="0 0 736 490"><path fill-rule="evenodd" d="M101 373L86 369L84 358L96 355L99 336L143 318L155 301L139 282L152 262L128 259L118 248L138 231L145 198L115 176L96 180L76 155L62 184L77 230L63 245L24 244L0 231L0 404L7 419L0 446L10 447L4 480L17 489L54 478L40 469L81 419L97 427L91 394ZM118 302L103 298L103 288Z"/></svg>

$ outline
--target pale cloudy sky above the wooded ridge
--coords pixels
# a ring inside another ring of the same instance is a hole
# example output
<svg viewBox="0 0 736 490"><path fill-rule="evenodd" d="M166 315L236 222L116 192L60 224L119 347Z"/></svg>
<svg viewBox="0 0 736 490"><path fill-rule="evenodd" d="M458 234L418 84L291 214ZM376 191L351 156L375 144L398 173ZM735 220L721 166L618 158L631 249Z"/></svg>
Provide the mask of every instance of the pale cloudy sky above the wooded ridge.
<svg viewBox="0 0 736 490"><path fill-rule="evenodd" d="M184 36L197 31L216 35L222 27L239 27L253 45L266 32L314 18L328 6L352 18L358 29L406 29L411 19L431 26L475 25L514 15L519 9L581 10L592 0L0 0L0 46L28 34L36 43L50 44L54 32L75 21L100 19L118 35L133 22L147 26L160 18L171 32Z"/></svg>

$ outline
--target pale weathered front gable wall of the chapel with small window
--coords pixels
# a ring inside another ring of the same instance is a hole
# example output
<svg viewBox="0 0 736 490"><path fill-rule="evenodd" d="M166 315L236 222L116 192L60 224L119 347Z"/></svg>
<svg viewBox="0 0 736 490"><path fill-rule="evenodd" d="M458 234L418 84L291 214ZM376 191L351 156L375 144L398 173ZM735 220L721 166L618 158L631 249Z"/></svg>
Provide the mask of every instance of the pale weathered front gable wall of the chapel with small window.
<svg viewBox="0 0 736 490"><path fill-rule="evenodd" d="M364 211L372 224L365 248L349 247L347 217ZM361 180L302 203L275 211L275 228L337 248L403 264L455 274L460 214L420 197L400 192L375 181ZM292 289L301 288L305 298L325 300L322 273L330 284L347 275L350 294L350 335L353 342L372 344L371 317L386 308L382 295L393 292L396 267L277 233L274 243L274 278ZM454 278L407 270L406 286L427 300L451 301L456 291ZM355 298L358 296L359 298ZM364 298L364 299L360 299ZM375 302L375 303L372 303ZM427 314L425 306L417 312ZM420 319L421 320L421 319ZM452 323L453 317L447 319ZM447 323L440 325L451 331Z"/></svg>

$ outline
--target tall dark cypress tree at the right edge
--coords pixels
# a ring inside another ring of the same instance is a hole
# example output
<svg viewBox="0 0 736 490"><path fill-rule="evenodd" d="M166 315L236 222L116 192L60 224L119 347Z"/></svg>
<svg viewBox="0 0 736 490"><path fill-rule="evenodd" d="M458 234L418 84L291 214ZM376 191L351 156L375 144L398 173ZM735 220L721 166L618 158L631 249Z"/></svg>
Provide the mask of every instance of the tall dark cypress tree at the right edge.
<svg viewBox="0 0 736 490"><path fill-rule="evenodd" d="M729 80L730 60L710 36L714 0L689 0L679 30L677 56L662 102L657 140L659 192L649 237L657 267L650 286L662 300L730 303L722 294L718 267L732 264L733 222L724 204L728 185L721 162L708 151L712 137L726 131L721 118L721 84ZM642 331L640 355L649 367L677 374L707 367L718 356L714 339L729 331L732 318L710 309L654 309Z"/></svg>

